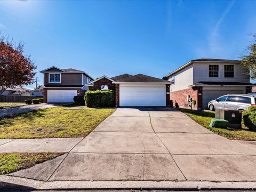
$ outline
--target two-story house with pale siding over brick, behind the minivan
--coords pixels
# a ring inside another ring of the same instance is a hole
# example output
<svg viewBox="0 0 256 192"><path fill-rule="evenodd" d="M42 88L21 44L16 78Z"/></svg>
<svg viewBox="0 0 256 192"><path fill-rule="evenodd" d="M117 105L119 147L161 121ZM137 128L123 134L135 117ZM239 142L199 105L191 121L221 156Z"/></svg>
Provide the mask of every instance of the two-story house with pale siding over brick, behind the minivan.
<svg viewBox="0 0 256 192"><path fill-rule="evenodd" d="M163 77L173 82L170 100L180 108L188 108L188 95L196 101L194 109L205 109L209 101L225 94L251 92L247 69L239 60L196 59Z"/></svg>

